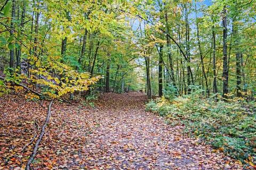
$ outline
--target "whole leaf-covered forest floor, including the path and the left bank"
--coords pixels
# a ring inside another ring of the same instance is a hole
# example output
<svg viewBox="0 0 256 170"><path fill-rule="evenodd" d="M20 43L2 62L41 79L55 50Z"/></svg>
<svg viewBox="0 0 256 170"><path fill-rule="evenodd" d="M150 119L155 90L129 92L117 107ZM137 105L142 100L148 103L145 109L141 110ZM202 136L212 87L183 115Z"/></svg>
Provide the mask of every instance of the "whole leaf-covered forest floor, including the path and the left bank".
<svg viewBox="0 0 256 170"><path fill-rule="evenodd" d="M235 160L145 112L139 92L105 94L94 108L58 103L39 146L34 169L242 169ZM44 107L18 96L0 98L0 169L25 167L23 151L45 120ZM35 123L37 122L37 123Z"/></svg>

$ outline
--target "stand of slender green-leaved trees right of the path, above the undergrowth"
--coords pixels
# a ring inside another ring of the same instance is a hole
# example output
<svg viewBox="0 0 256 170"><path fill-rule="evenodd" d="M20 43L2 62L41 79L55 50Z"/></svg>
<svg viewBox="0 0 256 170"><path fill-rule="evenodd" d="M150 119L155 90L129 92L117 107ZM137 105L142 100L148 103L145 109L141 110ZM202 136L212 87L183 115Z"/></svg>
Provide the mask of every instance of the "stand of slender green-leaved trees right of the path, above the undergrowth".
<svg viewBox="0 0 256 170"><path fill-rule="evenodd" d="M158 88L158 96L162 96L161 89L170 84L178 95L189 94L193 86L201 87L207 96L211 93L216 96L218 89L222 89L223 98L233 96L234 91L237 97L245 97L249 87L251 95L254 93L252 82L255 81L251 79L251 85L242 81L246 74L255 79L252 72L255 72L255 65L248 65L247 71L250 71L246 73L243 60L244 52L249 49L247 44L255 47L255 40L244 39L247 31L255 31L255 2L225 0L205 5L198 1L170 0L153 4L154 7L147 6L149 11L157 11L147 13L151 33L148 39L166 37L161 55L163 62L151 66L158 67L158 83L151 81L153 91ZM250 36L255 38L255 33ZM255 54L255 50L251 52ZM150 60L156 60L154 56L157 58L160 54L158 45L151 52ZM246 58L253 61L251 55ZM164 65L163 75L161 65ZM154 69L151 74L155 74Z"/></svg>

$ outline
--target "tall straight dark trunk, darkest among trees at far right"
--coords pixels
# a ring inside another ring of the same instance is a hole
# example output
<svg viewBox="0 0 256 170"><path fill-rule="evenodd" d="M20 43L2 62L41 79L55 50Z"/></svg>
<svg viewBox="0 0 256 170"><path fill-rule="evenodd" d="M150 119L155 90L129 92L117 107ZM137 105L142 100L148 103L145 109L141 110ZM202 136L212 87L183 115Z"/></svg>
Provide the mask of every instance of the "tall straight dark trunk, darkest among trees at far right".
<svg viewBox="0 0 256 170"><path fill-rule="evenodd" d="M222 16L222 25L223 25L223 98L227 98L226 94L228 94L228 57L227 57L227 9L226 6L223 8L223 16Z"/></svg>

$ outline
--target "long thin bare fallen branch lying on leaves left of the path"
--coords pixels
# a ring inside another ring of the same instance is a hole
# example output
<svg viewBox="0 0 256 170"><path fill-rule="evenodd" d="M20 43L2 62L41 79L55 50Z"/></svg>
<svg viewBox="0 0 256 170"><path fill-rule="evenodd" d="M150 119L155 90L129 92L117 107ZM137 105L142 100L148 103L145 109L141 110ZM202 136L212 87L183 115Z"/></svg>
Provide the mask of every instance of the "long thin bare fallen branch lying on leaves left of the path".
<svg viewBox="0 0 256 170"><path fill-rule="evenodd" d="M35 156L36 156L36 152L37 152L37 149L39 148L39 144L40 142L42 141L43 139L43 135L45 133L45 127L46 125L48 124L49 120L50 120L50 117L51 117L51 106L52 106L52 103L53 103L53 99L51 100L49 106L48 106L48 114L47 114L47 117L45 119L45 122L44 122L44 125L42 126L42 130L41 130L41 133L36 141L36 144L34 146L34 150L32 152L32 154L30 155L29 159L28 159L28 162L27 162L27 165L26 165L26 170L29 170L30 169L30 164L33 162Z"/></svg>

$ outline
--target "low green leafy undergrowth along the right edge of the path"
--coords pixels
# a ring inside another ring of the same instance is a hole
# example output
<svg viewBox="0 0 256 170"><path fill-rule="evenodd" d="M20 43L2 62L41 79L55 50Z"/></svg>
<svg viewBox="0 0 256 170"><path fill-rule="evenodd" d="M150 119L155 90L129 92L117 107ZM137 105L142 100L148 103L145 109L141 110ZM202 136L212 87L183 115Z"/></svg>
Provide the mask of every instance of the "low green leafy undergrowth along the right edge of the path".
<svg viewBox="0 0 256 170"><path fill-rule="evenodd" d="M233 100L230 103L203 99L200 90L172 101L151 100L147 111L166 116L172 125L185 125L185 132L196 135L223 150L229 156L246 160L256 158L255 102Z"/></svg>

